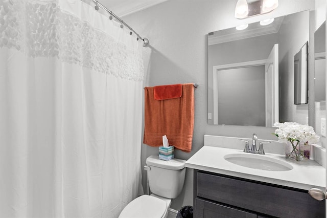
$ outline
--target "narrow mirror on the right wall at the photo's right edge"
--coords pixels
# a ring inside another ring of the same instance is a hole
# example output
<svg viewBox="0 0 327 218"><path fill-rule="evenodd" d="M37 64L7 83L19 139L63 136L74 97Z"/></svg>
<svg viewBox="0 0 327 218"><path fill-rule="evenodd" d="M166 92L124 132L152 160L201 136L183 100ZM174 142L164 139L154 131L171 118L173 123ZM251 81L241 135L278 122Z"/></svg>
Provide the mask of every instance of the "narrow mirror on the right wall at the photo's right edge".
<svg viewBox="0 0 327 218"><path fill-rule="evenodd" d="M325 31L326 22L324 21L315 31L315 102L324 102L326 100Z"/></svg>

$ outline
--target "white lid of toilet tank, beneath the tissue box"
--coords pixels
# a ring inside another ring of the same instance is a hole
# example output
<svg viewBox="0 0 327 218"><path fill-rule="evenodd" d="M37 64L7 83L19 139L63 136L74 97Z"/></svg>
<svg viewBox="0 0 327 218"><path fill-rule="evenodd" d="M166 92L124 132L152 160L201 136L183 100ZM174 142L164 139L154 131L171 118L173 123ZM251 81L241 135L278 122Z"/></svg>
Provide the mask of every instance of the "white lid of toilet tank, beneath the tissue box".
<svg viewBox="0 0 327 218"><path fill-rule="evenodd" d="M147 165L156 166L165 169L179 170L185 167L185 160L180 160L177 158L171 159L169 161L160 160L159 156L154 155L147 158Z"/></svg>

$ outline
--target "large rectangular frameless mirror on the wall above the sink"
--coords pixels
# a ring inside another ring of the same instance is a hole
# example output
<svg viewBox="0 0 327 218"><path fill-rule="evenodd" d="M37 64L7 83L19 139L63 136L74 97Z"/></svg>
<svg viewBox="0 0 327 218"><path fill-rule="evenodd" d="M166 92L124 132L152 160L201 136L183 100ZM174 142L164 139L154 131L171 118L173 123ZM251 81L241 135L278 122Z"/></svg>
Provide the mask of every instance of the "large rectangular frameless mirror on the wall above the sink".
<svg viewBox="0 0 327 218"><path fill-rule="evenodd" d="M308 40L309 11L265 26L258 22L209 33L208 124L272 127L277 121L296 122L299 114L306 119L308 105L293 102L294 56Z"/></svg>

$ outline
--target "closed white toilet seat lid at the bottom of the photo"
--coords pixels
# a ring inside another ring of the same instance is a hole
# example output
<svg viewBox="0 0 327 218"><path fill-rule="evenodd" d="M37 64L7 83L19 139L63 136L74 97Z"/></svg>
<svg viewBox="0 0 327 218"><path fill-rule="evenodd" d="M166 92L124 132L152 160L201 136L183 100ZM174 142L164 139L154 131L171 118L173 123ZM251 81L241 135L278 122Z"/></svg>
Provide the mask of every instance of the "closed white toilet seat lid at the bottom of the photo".
<svg viewBox="0 0 327 218"><path fill-rule="evenodd" d="M142 195L131 201L119 218L163 218L166 217L167 203L151 195Z"/></svg>

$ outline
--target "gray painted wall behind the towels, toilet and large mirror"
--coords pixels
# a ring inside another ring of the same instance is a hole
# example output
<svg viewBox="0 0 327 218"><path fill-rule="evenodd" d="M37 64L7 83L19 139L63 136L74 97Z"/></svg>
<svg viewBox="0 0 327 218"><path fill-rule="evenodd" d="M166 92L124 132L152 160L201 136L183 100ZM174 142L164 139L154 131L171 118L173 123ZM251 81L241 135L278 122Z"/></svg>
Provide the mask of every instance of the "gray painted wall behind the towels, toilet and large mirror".
<svg viewBox="0 0 327 218"><path fill-rule="evenodd" d="M168 0L157 6L123 17L139 34L148 37L150 47L144 51L147 76L145 86L198 82L195 91L193 148L190 153L176 151L176 158L188 159L203 146L203 136L220 135L275 139L273 128L207 124L207 33L247 22L307 9L314 10L314 0L281 0L279 7L265 15L243 20L234 18L236 0ZM142 145L142 164L157 154L157 148ZM146 174L143 171L143 185ZM146 190L146 189L145 189ZM186 171L185 189L173 200L171 208L193 205L193 173Z"/></svg>

